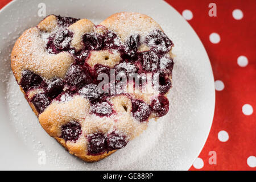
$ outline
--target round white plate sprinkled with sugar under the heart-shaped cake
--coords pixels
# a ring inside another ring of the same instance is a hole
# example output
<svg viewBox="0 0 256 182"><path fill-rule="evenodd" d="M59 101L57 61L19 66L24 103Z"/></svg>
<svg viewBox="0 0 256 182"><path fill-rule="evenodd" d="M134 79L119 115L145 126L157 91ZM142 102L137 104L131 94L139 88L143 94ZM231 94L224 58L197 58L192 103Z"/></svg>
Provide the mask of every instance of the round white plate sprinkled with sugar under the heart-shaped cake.
<svg viewBox="0 0 256 182"><path fill-rule="evenodd" d="M147 14L175 44L174 82L168 96L170 112L158 122L151 121L148 129L122 150L100 162L84 163L69 155L42 129L11 73L11 49L24 30L42 19L38 16L41 2L14 1L0 11L0 169L187 170L191 167L212 125L215 94L207 52L182 16L163 1L44 1L47 14L88 18L96 24L119 11ZM46 164L42 164L44 152Z"/></svg>

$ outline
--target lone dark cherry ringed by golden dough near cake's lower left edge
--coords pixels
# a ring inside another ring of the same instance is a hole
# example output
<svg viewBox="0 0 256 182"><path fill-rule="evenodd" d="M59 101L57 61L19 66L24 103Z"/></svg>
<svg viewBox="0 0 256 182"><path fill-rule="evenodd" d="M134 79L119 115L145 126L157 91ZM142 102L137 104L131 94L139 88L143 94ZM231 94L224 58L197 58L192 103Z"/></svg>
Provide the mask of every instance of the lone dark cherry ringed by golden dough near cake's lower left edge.
<svg viewBox="0 0 256 182"><path fill-rule="evenodd" d="M71 121L61 126L60 138L63 138L66 142L69 140L76 142L76 140L79 139L81 133L81 124L77 121Z"/></svg>

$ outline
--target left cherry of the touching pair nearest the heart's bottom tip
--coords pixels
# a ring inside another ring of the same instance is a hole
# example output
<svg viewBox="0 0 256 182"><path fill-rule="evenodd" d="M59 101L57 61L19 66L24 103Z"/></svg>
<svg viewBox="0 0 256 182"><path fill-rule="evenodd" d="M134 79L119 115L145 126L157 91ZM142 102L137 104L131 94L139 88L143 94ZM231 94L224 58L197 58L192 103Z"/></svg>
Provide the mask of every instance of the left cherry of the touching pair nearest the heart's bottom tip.
<svg viewBox="0 0 256 182"><path fill-rule="evenodd" d="M94 133L87 136L88 138L88 153L100 154L106 150L106 139L101 133Z"/></svg>

